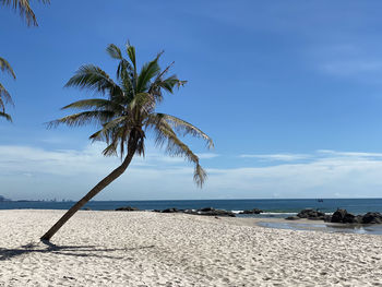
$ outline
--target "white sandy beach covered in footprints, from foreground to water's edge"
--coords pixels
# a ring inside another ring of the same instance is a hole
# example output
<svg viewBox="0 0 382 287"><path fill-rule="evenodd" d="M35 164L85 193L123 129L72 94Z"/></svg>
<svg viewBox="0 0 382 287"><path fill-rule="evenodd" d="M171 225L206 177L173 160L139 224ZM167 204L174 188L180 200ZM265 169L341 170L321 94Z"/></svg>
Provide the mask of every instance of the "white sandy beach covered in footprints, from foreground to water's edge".
<svg viewBox="0 0 382 287"><path fill-rule="evenodd" d="M0 286L382 286L382 236L183 214L0 211Z"/></svg>

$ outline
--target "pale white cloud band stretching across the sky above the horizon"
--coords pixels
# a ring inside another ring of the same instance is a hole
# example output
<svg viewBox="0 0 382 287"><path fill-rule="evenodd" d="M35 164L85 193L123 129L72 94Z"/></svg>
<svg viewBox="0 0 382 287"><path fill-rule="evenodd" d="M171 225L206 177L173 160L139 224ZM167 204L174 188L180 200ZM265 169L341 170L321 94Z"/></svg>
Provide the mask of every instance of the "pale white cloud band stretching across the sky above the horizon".
<svg viewBox="0 0 382 287"><path fill-rule="evenodd" d="M118 158L103 157L102 148L92 145L83 151L46 151L31 146L0 146L0 194L12 199L79 199L120 164ZM380 153L323 150L311 155L282 155L251 156L282 162L266 167L255 166L254 162L252 167L208 168L208 162L202 160L208 179L204 189L199 190L192 182L192 165L148 151L146 158L134 158L126 174L97 200L359 198L381 194ZM213 157L213 154L205 156ZM300 158L307 160L298 162ZM240 159L237 160L240 166Z"/></svg>

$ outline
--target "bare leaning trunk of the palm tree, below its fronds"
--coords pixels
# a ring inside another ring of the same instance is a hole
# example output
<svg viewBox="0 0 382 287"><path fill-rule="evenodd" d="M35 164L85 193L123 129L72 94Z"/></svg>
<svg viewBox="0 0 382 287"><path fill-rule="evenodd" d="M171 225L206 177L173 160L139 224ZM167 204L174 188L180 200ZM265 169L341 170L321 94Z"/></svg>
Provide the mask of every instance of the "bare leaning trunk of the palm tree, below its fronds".
<svg viewBox="0 0 382 287"><path fill-rule="evenodd" d="M75 203L41 238L40 240L49 241L50 238L76 213L82 206L84 206L89 200L97 195L103 189L109 186L115 179L124 172L131 163L135 153L135 148L129 148L129 153L126 156L122 165L111 171L106 178L98 182L85 196L83 196L77 203Z"/></svg>

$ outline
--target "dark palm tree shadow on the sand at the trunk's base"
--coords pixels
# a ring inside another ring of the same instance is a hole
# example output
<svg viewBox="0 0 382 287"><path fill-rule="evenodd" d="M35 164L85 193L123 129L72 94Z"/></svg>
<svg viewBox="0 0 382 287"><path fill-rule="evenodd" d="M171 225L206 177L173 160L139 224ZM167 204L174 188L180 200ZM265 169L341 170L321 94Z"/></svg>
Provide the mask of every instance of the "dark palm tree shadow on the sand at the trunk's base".
<svg viewBox="0 0 382 287"><path fill-rule="evenodd" d="M44 244L41 244L44 243ZM117 259L117 260L133 260L129 256L111 256L105 254L96 254L97 252L114 252L114 251L134 251L140 249L151 249L155 246L138 247L138 248L98 248L96 246L56 246L49 241L41 241L40 243L29 243L21 246L15 249L0 248L0 261L11 260L13 258L28 254L28 253L51 253L69 256L80 258L102 258L102 259Z"/></svg>

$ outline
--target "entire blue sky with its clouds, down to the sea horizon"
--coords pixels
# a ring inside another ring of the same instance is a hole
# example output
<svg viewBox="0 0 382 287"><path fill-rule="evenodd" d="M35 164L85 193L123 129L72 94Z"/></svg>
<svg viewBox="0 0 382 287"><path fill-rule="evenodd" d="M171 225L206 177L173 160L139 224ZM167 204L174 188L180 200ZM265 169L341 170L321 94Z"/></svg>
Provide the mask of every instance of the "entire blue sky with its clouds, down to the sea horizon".
<svg viewBox="0 0 382 287"><path fill-rule="evenodd" d="M94 127L47 130L59 109L91 96L63 88L94 63L115 74L108 44L189 83L158 108L208 133L186 140L210 178L147 141L145 159L97 200L366 198L382 190L380 1L52 1L33 3L39 27L0 9L1 57L17 80L14 122L0 120L0 194L79 199L119 164L91 145ZM7 28L4 28L7 27Z"/></svg>

